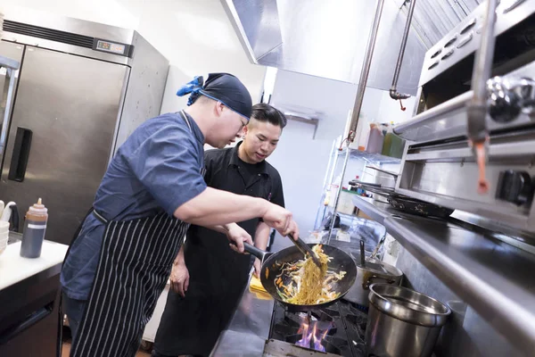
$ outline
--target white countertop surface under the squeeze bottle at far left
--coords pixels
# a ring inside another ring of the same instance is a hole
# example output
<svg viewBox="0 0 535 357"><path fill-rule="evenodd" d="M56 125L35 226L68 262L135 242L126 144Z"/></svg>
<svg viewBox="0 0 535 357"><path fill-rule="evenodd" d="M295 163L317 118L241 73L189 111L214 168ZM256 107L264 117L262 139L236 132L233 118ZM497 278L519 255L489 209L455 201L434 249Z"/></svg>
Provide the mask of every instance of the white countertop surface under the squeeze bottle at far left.
<svg viewBox="0 0 535 357"><path fill-rule="evenodd" d="M23 258L20 239L20 234L10 233L10 241L15 242L7 245L4 253L0 254L0 290L61 264L69 248L68 245L45 240L39 258Z"/></svg>

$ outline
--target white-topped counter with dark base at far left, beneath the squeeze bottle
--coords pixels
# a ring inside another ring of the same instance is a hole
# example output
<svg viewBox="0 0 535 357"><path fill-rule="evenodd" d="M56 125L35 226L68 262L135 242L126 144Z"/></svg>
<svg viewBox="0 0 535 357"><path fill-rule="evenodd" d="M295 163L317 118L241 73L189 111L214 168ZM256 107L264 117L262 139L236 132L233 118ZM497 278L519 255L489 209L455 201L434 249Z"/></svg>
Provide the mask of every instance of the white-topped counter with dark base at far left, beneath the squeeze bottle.
<svg viewBox="0 0 535 357"><path fill-rule="evenodd" d="M29 259L21 257L20 239L20 234L10 233L0 254L0 355L53 356L60 273L68 246L45 240L41 256Z"/></svg>

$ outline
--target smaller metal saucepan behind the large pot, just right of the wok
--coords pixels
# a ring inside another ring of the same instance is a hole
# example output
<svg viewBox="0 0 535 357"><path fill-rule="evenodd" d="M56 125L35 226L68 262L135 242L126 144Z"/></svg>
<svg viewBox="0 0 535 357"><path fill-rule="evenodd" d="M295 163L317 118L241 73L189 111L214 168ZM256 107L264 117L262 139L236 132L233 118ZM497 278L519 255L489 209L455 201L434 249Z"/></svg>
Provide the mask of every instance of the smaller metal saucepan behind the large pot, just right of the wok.
<svg viewBox="0 0 535 357"><path fill-rule="evenodd" d="M361 306L368 306L369 288L374 283L384 283L399 286L403 272L398 268L375 259L366 259L364 264L357 263L357 278L355 284L350 287L348 293L343 297L351 303L358 303Z"/></svg>

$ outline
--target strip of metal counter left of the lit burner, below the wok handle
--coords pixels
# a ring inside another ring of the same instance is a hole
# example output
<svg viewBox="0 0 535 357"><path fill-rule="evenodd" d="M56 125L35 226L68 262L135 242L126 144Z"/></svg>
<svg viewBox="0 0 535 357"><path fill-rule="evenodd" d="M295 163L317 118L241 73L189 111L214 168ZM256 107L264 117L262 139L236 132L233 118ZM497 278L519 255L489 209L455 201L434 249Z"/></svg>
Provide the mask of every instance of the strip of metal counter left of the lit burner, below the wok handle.
<svg viewBox="0 0 535 357"><path fill-rule="evenodd" d="M251 274L250 274L251 279ZM261 356L269 335L273 299L262 300L245 287L235 314L210 356Z"/></svg>

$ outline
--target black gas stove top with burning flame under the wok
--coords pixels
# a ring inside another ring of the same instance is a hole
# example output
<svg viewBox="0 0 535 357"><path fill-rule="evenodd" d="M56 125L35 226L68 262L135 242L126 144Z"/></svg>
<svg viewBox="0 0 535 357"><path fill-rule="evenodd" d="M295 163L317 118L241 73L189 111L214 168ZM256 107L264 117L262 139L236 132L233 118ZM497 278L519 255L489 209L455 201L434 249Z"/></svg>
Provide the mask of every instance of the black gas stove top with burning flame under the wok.
<svg viewBox="0 0 535 357"><path fill-rule="evenodd" d="M366 320L363 308L343 300L309 313L276 302L264 356L365 357Z"/></svg>

